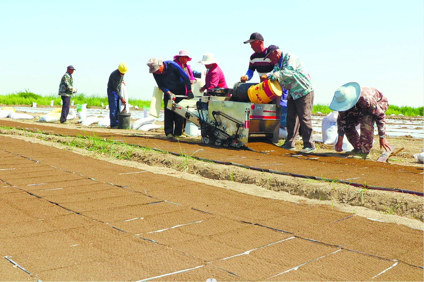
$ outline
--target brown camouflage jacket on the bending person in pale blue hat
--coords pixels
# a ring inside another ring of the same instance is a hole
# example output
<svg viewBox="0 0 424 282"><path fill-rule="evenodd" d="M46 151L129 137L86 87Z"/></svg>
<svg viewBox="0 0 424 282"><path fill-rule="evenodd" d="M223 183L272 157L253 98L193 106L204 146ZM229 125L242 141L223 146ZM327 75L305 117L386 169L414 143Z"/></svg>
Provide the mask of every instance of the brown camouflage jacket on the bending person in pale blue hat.
<svg viewBox="0 0 424 282"><path fill-rule="evenodd" d="M343 136L346 126L351 122L360 122L360 119L367 113L374 116L377 123L378 134L385 135L386 114L389 104L387 98L375 88L361 87L361 95L357 103L347 111L339 112L337 118L337 132Z"/></svg>

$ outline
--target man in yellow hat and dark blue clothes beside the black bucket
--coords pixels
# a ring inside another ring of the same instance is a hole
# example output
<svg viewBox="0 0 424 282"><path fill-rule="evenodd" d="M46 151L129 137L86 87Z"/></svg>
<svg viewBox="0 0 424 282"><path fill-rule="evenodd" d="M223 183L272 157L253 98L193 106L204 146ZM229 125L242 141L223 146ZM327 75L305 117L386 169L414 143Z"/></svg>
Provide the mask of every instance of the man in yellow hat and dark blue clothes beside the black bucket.
<svg viewBox="0 0 424 282"><path fill-rule="evenodd" d="M126 104L126 100L121 95L121 85L124 82L124 74L128 71L126 63L120 63L118 68L112 72L109 76L107 83L107 100L109 101L109 118L110 128L118 128L118 112L119 112L119 100L122 104Z"/></svg>

